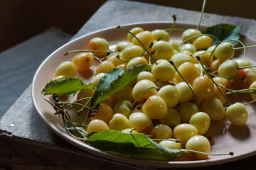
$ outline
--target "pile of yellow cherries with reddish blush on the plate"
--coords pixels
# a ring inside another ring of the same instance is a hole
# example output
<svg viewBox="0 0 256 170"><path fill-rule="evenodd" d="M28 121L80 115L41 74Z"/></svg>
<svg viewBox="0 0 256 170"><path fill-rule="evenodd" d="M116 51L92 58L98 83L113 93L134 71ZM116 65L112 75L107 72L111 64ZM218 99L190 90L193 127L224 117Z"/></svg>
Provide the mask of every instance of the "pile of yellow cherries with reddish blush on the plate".
<svg viewBox="0 0 256 170"><path fill-rule="evenodd" d="M250 92L255 100L256 72L250 61L233 59L236 49L229 41L213 45L213 38L197 29L185 30L181 40L181 44L170 40L166 30L132 28L127 41L115 42L113 51L104 38L92 38L87 52L75 55L72 62L61 63L55 70L56 78L93 72L95 86L114 68L152 65L100 103L85 128L87 133L109 129L144 132L164 147L209 153L210 142L204 135L210 121L221 121L226 116L233 125L244 125L248 118L245 104L230 103L226 96ZM100 64L92 70L95 60ZM233 89L232 81L240 84L241 90ZM77 100L90 106L94 91L79 91ZM196 159L207 157L189 155Z"/></svg>

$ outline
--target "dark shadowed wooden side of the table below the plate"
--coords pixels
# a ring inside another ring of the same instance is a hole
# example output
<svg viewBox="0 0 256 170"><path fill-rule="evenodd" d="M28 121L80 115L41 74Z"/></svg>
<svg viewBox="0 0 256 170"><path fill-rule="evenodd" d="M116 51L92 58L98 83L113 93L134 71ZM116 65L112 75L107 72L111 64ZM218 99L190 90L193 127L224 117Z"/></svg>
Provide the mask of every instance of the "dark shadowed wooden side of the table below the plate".
<svg viewBox="0 0 256 170"><path fill-rule="evenodd" d="M137 169L142 170L140 166L131 166L116 162L115 160L104 159L97 155L83 152L79 149L70 147L63 149L59 146L50 146L31 140L24 140L22 143L17 137L1 137L0 140L6 140L10 143L10 157L1 157L1 165L5 164L5 169ZM0 146L1 151L1 146ZM11 166L11 168L10 168Z"/></svg>

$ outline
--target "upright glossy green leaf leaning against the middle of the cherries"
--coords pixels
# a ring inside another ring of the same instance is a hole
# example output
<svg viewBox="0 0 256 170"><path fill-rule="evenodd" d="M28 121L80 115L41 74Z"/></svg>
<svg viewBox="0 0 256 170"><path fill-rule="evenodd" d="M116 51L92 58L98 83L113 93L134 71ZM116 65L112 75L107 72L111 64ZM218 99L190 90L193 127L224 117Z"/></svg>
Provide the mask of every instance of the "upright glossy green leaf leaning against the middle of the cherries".
<svg viewBox="0 0 256 170"><path fill-rule="evenodd" d="M91 99L91 108L105 100L108 96L114 94L127 86L132 80L136 79L140 72L150 69L150 65L137 65L130 67L126 71L123 69L112 69L108 72L95 87L95 92Z"/></svg>

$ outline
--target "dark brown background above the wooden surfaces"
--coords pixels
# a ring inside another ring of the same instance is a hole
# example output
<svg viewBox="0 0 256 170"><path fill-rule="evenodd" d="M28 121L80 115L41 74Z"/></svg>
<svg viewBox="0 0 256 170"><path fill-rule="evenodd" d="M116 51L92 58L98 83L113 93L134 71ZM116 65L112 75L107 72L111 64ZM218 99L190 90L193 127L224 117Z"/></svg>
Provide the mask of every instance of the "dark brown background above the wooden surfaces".
<svg viewBox="0 0 256 170"><path fill-rule="evenodd" d="M0 52L50 27L73 35L105 1L0 0ZM203 4L203 0L141 1L194 11L201 11ZM205 12L256 19L255 4L254 0L208 0Z"/></svg>

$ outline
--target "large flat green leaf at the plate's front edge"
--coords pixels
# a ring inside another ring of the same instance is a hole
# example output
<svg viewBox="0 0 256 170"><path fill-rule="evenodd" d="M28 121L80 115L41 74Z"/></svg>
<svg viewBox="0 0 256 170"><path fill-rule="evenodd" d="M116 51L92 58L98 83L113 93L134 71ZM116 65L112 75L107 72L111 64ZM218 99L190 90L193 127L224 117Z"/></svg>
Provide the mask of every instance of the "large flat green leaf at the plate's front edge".
<svg viewBox="0 0 256 170"><path fill-rule="evenodd" d="M105 130L88 135L86 142L104 152L151 161L172 161L188 152L186 149L161 147L143 133L131 135L116 130Z"/></svg>

